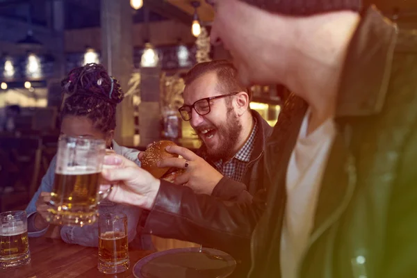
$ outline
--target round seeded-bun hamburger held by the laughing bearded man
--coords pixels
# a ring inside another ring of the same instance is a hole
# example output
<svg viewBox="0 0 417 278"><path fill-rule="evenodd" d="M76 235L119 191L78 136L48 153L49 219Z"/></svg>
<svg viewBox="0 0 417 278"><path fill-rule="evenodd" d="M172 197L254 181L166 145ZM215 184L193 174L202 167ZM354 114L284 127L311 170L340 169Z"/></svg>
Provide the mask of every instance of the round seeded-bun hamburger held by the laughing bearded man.
<svg viewBox="0 0 417 278"><path fill-rule="evenodd" d="M142 169L147 170L156 179L174 182L175 178L184 172L183 169L176 167L158 167L156 163L165 158L179 157L178 154L170 154L165 150L168 146L176 146L172 141L161 140L150 145L140 159Z"/></svg>

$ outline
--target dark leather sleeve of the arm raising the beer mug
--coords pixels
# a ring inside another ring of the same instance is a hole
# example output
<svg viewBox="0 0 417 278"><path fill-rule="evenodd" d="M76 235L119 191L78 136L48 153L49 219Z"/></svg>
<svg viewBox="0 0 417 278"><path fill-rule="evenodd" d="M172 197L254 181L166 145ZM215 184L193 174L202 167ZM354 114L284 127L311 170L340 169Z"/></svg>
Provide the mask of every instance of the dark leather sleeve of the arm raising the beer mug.
<svg viewBox="0 0 417 278"><path fill-rule="evenodd" d="M219 248L235 259L247 259L252 231L265 210L261 200L224 201L161 181L143 232Z"/></svg>

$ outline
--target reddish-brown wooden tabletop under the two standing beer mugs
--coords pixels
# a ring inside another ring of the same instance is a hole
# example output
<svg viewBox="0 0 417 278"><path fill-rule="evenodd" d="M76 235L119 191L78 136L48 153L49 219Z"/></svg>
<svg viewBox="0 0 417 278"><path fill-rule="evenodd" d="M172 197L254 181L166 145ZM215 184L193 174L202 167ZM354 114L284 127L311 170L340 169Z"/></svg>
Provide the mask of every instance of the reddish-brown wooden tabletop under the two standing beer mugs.
<svg viewBox="0 0 417 278"><path fill-rule="evenodd" d="M133 266L152 251L129 250L130 268L117 275L104 275L97 270L98 250L64 243L51 238L29 238L31 262L19 268L0 269L0 277L134 277Z"/></svg>

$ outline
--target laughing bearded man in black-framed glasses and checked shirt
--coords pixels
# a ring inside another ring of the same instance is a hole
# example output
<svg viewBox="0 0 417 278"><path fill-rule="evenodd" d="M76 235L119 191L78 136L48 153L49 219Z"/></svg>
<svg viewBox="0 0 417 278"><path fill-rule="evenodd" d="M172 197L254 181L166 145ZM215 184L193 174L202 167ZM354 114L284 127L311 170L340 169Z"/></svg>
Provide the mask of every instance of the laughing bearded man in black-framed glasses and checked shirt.
<svg viewBox="0 0 417 278"><path fill-rule="evenodd" d="M227 60L198 63L185 76L181 117L202 140L196 153L179 147L167 151L183 158L165 158L160 167L184 168L174 183L195 193L251 202L263 190L263 149L272 127L250 109L251 93L240 85L238 72ZM141 153L142 154L142 153Z"/></svg>

